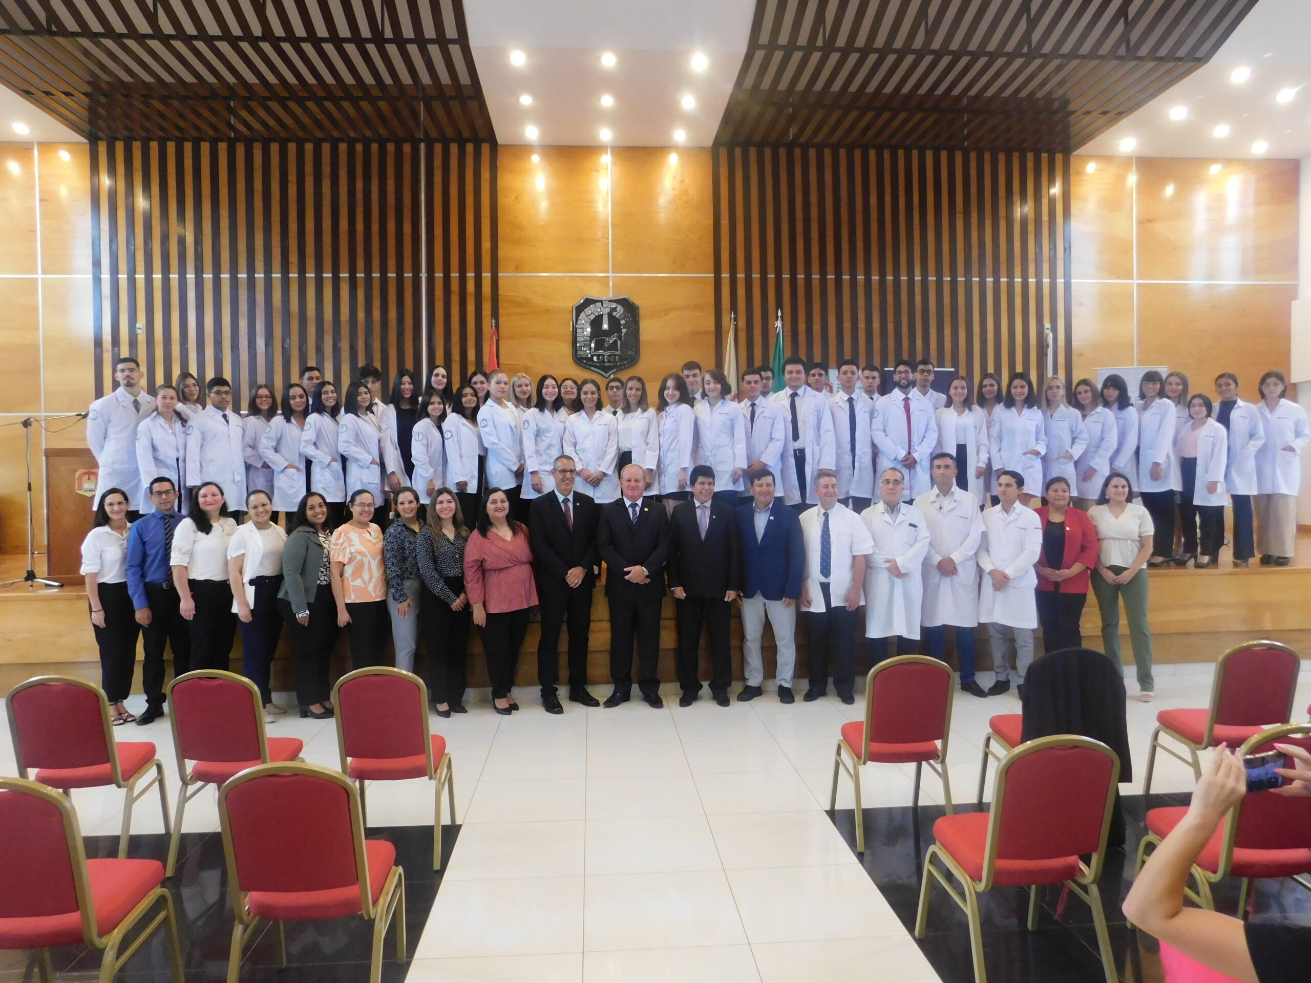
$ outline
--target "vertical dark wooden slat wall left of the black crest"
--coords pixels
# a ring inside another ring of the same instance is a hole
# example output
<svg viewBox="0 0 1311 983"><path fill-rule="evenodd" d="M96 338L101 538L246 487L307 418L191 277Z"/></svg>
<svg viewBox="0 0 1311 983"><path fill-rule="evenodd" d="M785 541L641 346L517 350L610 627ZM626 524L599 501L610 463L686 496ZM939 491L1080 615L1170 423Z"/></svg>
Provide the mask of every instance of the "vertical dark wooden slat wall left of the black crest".
<svg viewBox="0 0 1311 983"><path fill-rule="evenodd" d="M497 315L489 143L93 142L96 395L225 376L244 408L304 364L338 384L485 360ZM485 325L486 321L486 325ZM423 332L427 332L425 345ZM425 359L426 353L426 359Z"/></svg>

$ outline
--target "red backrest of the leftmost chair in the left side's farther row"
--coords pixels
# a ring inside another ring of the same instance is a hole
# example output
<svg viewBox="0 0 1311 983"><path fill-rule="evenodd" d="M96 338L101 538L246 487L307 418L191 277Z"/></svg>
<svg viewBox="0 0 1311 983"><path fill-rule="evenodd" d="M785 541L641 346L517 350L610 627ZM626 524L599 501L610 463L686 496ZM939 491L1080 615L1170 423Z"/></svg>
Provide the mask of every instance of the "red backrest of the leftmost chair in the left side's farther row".
<svg viewBox="0 0 1311 983"><path fill-rule="evenodd" d="M5 704L21 776L29 768L109 764L119 780L109 700L98 685L72 676L37 676L16 685Z"/></svg>

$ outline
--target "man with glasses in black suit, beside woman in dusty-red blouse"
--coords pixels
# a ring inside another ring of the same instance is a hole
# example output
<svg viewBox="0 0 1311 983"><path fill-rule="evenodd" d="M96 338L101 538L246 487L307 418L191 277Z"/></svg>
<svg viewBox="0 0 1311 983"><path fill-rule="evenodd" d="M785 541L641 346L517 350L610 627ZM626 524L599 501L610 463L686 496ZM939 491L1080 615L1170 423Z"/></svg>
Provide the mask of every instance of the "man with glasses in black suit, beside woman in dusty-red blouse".
<svg viewBox="0 0 1311 983"><path fill-rule="evenodd" d="M591 591L597 585L597 514L590 495L574 494L574 459L556 457L551 476L553 490L532 499L528 509L528 543L538 581L541 637L538 641L538 684L547 713L564 713L556 683L560 682L560 628L569 623L569 699L583 706L599 706L587 692L587 632L591 629Z"/></svg>

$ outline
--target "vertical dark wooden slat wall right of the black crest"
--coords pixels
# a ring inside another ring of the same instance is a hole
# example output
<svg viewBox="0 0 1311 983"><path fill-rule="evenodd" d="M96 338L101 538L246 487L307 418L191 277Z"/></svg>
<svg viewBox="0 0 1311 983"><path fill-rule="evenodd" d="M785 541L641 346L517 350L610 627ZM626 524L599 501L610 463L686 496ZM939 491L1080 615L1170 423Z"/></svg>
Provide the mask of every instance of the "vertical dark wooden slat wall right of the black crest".
<svg viewBox="0 0 1311 983"><path fill-rule="evenodd" d="M1063 153L713 148L718 298L741 364L788 354L969 379L1074 364L1070 159Z"/></svg>

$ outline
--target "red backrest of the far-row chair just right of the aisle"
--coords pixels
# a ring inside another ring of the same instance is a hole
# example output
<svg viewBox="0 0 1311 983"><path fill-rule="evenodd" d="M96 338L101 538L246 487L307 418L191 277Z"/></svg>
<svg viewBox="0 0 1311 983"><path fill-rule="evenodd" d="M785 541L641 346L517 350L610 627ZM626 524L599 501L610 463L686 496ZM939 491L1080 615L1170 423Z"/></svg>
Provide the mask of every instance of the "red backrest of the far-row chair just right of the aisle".
<svg viewBox="0 0 1311 983"><path fill-rule="evenodd" d="M952 667L927 655L898 655L865 678L865 744L909 744L947 739L952 730Z"/></svg>

